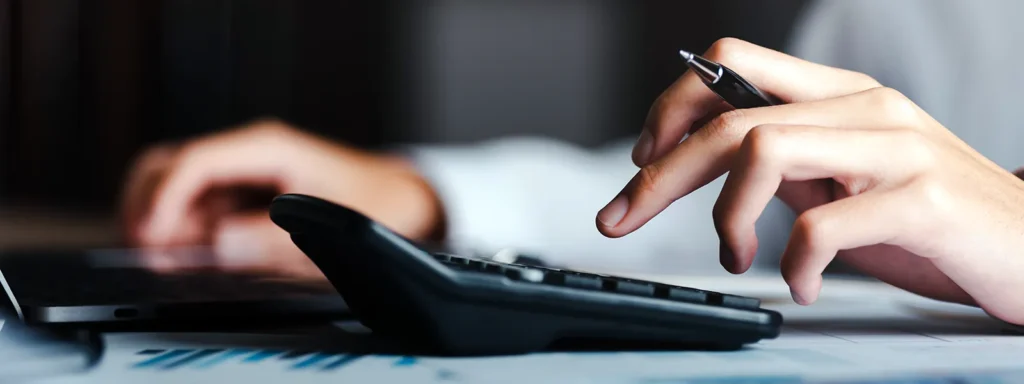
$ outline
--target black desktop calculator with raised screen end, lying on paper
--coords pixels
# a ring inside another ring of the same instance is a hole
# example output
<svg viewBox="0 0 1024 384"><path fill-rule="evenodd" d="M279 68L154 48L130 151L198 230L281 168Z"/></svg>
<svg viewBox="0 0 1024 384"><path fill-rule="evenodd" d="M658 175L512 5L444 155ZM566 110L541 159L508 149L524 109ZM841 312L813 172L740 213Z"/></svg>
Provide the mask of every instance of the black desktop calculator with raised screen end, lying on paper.
<svg viewBox="0 0 1024 384"><path fill-rule="evenodd" d="M270 218L380 337L443 355L569 341L738 349L778 336L760 300L695 288L427 251L367 216L283 195Z"/></svg>

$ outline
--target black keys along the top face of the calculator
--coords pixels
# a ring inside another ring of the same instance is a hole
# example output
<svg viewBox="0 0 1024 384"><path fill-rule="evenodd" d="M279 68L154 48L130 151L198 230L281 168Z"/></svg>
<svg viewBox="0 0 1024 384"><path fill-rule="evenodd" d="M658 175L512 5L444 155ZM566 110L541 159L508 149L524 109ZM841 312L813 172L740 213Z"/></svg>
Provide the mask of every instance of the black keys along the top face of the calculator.
<svg viewBox="0 0 1024 384"><path fill-rule="evenodd" d="M612 292L697 304L720 305L732 308L755 309L761 306L761 300L757 298L722 294L694 288L537 265L502 263L439 253L433 254L433 256L437 261L453 269L501 274L519 282Z"/></svg>

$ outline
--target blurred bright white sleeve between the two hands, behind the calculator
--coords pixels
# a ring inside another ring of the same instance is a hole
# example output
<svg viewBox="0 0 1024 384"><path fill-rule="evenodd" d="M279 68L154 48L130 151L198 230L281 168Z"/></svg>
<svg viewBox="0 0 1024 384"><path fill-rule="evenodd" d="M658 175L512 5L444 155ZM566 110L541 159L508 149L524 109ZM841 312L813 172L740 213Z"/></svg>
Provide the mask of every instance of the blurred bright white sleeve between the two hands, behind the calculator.
<svg viewBox="0 0 1024 384"><path fill-rule="evenodd" d="M724 177L677 201L636 232L607 239L597 212L637 172L633 141L585 150L532 137L472 146L422 146L413 157L445 205L451 245L494 252L511 247L549 262L633 271L724 271L711 210ZM781 208L781 209L779 209ZM763 234L784 238L773 205ZM759 232L760 233L760 232ZM763 249L781 252L777 242Z"/></svg>

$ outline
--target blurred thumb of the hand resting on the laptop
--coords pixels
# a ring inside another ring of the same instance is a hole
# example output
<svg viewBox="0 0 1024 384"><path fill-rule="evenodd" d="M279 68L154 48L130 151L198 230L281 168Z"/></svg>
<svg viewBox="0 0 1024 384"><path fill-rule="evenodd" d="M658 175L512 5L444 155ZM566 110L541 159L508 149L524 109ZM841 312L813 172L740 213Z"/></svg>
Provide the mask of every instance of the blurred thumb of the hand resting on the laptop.
<svg viewBox="0 0 1024 384"><path fill-rule="evenodd" d="M265 211L222 218L215 229L213 246L216 263L222 269L325 279Z"/></svg>

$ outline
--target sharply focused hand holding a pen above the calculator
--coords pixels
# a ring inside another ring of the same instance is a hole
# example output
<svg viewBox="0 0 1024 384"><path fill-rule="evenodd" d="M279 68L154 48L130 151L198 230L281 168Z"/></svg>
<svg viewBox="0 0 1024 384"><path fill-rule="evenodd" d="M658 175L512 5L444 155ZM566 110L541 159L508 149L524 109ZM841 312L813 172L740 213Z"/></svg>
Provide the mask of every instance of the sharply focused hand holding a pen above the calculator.
<svg viewBox="0 0 1024 384"><path fill-rule="evenodd" d="M865 75L733 39L707 56L787 103L723 113L683 75L652 106L634 152L641 169L598 214L602 233L632 232L728 172L713 212L731 272L750 267L755 222L774 196L799 214L781 259L798 303L817 298L838 255L894 286L1024 324L1024 182Z"/></svg>

